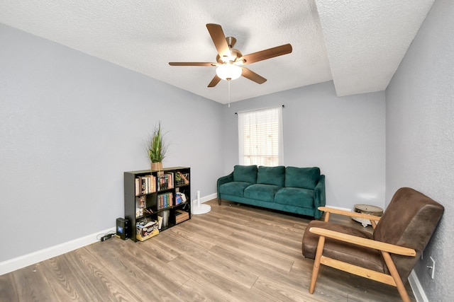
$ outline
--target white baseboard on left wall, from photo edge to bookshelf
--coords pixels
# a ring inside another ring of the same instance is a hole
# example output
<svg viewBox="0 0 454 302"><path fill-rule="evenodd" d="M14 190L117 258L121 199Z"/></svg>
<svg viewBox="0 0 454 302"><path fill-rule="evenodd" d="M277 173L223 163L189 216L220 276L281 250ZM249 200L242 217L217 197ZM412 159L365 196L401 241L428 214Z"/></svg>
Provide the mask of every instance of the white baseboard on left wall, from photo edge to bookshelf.
<svg viewBox="0 0 454 302"><path fill-rule="evenodd" d="M16 269L21 269L23 267L28 267L28 265L33 265L35 263L48 260L52 257L65 254L65 252L70 252L76 250L77 248L82 248L85 245L89 245L99 241L101 234L115 232L116 227L108 228L104 231L99 231L82 238L77 238L66 243L61 243L59 245L51 246L50 248L45 248L43 250L38 250L36 252L31 252L30 254L16 257L10 260L0 262L0 275L13 272Z"/></svg>

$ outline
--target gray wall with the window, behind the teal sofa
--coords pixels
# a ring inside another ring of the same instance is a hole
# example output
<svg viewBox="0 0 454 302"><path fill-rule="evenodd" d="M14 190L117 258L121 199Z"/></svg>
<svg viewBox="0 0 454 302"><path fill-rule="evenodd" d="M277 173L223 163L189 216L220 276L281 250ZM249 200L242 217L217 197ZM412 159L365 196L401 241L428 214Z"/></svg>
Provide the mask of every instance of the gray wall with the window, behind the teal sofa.
<svg viewBox="0 0 454 302"><path fill-rule="evenodd" d="M320 167L330 206L352 209L366 203L384 208L383 91L338 98L328 81L226 105L224 173L238 163L235 112L279 105L285 105L285 165Z"/></svg>

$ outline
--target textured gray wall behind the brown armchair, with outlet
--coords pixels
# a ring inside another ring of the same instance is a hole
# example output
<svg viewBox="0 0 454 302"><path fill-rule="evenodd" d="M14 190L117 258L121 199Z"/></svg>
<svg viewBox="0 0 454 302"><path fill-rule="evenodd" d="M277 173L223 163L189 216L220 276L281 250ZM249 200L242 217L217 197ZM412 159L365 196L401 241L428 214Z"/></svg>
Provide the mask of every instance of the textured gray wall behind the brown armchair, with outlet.
<svg viewBox="0 0 454 302"><path fill-rule="evenodd" d="M416 274L429 301L454 301L454 2L437 0L386 91L387 200L414 187L445 214ZM428 275L436 260L435 279Z"/></svg>

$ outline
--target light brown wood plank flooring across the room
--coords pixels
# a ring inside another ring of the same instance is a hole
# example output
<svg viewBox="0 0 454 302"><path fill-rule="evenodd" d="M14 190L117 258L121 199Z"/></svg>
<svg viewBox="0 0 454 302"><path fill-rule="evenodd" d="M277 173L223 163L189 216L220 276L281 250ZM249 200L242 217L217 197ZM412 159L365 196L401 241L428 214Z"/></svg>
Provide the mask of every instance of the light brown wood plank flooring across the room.
<svg viewBox="0 0 454 302"><path fill-rule="evenodd" d="M142 243L111 238L4 274L0 301L401 301L392 286L330 267L309 294L309 218L208 204L208 214Z"/></svg>

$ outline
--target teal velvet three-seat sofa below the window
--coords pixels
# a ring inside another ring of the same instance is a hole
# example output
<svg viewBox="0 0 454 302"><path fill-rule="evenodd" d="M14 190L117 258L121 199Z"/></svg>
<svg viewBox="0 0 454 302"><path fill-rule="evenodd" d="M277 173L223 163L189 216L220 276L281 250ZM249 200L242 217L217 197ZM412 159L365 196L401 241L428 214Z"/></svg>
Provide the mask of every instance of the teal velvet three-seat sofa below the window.
<svg viewBox="0 0 454 302"><path fill-rule="evenodd" d="M325 206L325 175L320 168L235 165L218 179L218 204L226 199L319 219Z"/></svg>

